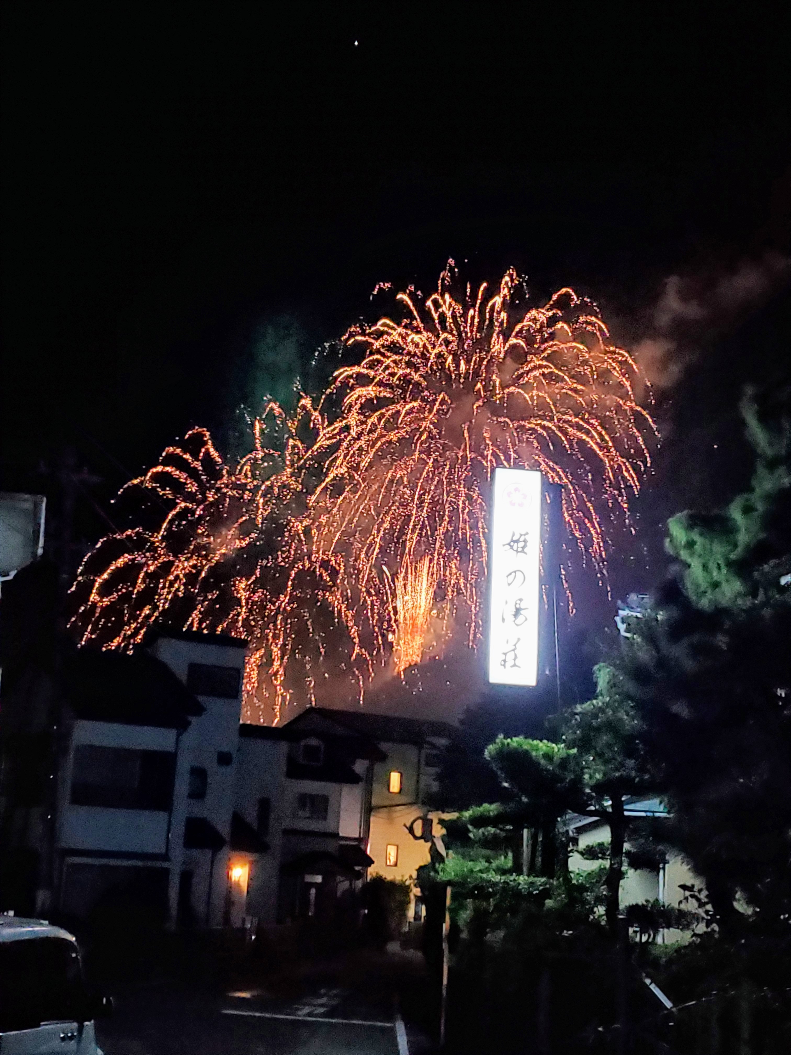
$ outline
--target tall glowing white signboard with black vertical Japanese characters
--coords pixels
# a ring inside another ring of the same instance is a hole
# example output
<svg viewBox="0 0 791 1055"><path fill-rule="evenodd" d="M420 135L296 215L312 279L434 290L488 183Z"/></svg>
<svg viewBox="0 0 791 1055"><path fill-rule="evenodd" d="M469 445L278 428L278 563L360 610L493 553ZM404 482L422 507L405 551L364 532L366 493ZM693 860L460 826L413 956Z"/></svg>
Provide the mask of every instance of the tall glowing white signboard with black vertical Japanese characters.
<svg viewBox="0 0 791 1055"><path fill-rule="evenodd" d="M489 682L538 678L541 474L498 468L489 523Z"/></svg>

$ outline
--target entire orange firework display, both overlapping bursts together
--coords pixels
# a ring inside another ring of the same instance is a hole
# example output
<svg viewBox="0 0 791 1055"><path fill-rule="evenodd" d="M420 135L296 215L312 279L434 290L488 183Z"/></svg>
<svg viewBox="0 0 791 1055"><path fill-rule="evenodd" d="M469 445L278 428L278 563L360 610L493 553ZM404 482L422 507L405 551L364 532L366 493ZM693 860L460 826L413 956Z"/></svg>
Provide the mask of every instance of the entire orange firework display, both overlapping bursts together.
<svg viewBox="0 0 791 1055"><path fill-rule="evenodd" d="M488 298L484 285L457 300L452 281L448 267L424 304L399 294L400 321L352 328L359 365L317 407L270 404L237 464L193 429L128 484L151 526L85 559L81 640L131 649L155 622L244 636L252 721L326 699L330 684L362 698L375 664L420 663L438 610L479 638L499 465L560 485L570 534L602 575L603 522L628 518L649 464L633 360L571 289L518 310L514 270Z"/></svg>

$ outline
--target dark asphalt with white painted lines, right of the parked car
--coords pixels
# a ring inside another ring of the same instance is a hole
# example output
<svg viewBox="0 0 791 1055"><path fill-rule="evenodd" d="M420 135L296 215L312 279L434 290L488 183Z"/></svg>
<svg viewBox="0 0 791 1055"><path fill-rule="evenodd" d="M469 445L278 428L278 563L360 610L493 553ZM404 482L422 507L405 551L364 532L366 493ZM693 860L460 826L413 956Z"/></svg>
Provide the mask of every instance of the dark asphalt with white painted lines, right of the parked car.
<svg viewBox="0 0 791 1055"><path fill-rule="evenodd" d="M115 998L96 1023L105 1055L407 1055L389 998L331 985L278 997L262 990L201 993L147 986Z"/></svg>

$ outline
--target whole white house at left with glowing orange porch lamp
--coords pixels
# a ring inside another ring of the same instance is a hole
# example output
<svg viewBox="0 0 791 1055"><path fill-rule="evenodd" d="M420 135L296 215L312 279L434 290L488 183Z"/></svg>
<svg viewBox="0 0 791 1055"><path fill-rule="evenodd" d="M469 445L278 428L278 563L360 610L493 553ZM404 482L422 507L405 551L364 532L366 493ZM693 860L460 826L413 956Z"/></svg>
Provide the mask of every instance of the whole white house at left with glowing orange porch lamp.
<svg viewBox="0 0 791 1055"><path fill-rule="evenodd" d="M90 917L134 898L175 924L240 925L239 867L269 849L234 810L245 652L245 641L199 633L160 634L134 655L67 651L55 746L17 678L3 696L3 843L15 862L3 908ZM31 683L38 695L41 683ZM36 887L47 872L44 899Z"/></svg>

